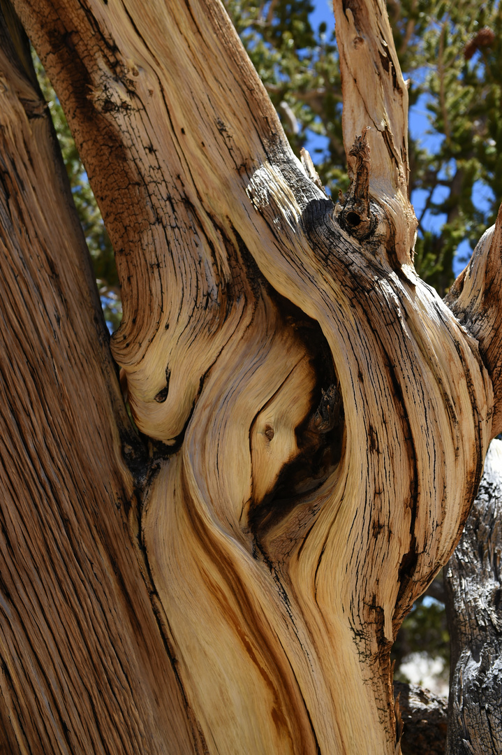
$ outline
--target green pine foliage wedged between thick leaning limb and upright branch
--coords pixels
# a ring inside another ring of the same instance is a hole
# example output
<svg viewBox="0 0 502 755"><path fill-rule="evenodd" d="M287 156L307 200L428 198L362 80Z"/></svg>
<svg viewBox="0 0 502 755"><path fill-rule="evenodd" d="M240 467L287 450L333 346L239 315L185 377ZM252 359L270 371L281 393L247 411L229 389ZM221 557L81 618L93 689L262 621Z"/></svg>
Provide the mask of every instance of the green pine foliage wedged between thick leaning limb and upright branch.
<svg viewBox="0 0 502 755"><path fill-rule="evenodd" d="M315 135L325 137L326 146L315 147L311 157L329 193L338 196L349 180L334 18L329 28L322 22L314 29L311 0L224 3L297 156Z"/></svg>

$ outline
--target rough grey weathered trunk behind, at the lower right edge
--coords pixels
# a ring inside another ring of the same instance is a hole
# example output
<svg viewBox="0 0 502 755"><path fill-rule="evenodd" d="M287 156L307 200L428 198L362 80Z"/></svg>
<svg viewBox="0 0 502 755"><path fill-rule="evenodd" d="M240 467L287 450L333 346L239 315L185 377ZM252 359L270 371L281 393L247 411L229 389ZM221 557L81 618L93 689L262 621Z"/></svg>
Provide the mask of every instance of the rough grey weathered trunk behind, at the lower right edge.
<svg viewBox="0 0 502 755"><path fill-rule="evenodd" d="M451 755L502 752L501 519L502 442L493 440L476 501L445 574Z"/></svg>

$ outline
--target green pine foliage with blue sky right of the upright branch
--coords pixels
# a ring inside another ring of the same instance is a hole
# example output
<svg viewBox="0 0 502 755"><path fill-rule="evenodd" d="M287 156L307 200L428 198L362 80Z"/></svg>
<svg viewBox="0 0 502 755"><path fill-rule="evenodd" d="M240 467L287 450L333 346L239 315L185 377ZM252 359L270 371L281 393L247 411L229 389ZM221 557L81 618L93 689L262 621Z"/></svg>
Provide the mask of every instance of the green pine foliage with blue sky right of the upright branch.
<svg viewBox="0 0 502 755"><path fill-rule="evenodd" d="M411 140L411 189L412 199L417 189L425 198L415 265L443 294L458 246L474 248L502 199L500 8L495 0L388 5L411 103L422 96L436 137L433 150Z"/></svg>

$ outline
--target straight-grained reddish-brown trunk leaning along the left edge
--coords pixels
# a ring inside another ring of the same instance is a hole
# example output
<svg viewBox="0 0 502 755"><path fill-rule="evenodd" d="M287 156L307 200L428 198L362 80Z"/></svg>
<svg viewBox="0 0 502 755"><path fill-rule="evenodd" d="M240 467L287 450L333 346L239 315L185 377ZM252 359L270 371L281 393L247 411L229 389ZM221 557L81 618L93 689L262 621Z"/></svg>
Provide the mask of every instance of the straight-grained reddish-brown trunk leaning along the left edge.
<svg viewBox="0 0 502 755"><path fill-rule="evenodd" d="M0 40L0 752L192 753L87 248L34 72Z"/></svg>

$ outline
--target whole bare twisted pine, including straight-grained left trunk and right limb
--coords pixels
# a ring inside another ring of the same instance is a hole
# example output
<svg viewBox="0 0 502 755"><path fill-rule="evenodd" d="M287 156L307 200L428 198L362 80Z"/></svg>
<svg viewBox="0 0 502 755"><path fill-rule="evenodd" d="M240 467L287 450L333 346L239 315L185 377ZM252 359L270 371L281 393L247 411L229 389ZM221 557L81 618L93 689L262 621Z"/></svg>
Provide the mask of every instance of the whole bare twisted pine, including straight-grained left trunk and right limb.
<svg viewBox="0 0 502 755"><path fill-rule="evenodd" d="M502 220L449 306L415 275L382 0L335 0L352 180L335 203L217 0L14 8L124 320L120 389L2 0L2 752L399 753L390 646L502 430Z"/></svg>

